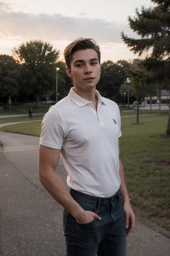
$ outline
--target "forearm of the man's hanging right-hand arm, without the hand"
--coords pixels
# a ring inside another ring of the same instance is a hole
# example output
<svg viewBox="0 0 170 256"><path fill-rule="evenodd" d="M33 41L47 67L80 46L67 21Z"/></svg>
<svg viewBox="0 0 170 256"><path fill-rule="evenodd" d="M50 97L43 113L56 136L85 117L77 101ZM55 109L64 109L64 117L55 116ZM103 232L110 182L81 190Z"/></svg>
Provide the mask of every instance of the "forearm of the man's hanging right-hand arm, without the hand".
<svg viewBox="0 0 170 256"><path fill-rule="evenodd" d="M129 199L128 190L127 190L126 183L125 183L123 165L122 165L122 162L120 159L119 159L119 175L121 178L120 190L121 190L121 196L122 196L123 203L126 203L126 202L129 203L130 199Z"/></svg>

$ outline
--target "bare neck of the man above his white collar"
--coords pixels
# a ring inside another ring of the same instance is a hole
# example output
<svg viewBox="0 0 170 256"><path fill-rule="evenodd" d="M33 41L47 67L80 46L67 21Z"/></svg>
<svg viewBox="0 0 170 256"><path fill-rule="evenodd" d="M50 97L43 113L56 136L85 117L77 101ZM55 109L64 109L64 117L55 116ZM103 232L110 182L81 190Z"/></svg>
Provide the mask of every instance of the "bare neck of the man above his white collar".
<svg viewBox="0 0 170 256"><path fill-rule="evenodd" d="M96 102L96 87L92 88L92 89L84 89L82 87L79 86L75 86L74 85L74 91L83 99L92 101L93 103Z"/></svg>

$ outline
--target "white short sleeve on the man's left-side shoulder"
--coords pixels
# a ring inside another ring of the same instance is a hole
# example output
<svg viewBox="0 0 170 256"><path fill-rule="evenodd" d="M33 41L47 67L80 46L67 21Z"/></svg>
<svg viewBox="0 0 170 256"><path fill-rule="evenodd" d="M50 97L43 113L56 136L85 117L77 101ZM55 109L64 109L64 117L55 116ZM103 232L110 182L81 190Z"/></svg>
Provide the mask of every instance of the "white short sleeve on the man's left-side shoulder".
<svg viewBox="0 0 170 256"><path fill-rule="evenodd" d="M61 149L65 140L65 129L55 107L51 107L44 115L41 124L41 135L39 144L55 149Z"/></svg>

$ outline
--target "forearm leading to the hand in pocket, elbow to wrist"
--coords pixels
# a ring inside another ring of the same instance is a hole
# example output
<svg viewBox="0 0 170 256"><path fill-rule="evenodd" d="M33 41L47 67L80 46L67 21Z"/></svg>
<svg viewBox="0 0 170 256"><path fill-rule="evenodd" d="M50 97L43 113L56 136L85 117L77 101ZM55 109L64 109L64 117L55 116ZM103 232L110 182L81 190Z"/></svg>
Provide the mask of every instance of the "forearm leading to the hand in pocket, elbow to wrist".
<svg viewBox="0 0 170 256"><path fill-rule="evenodd" d="M76 218L84 214L84 209L70 195L62 180L54 171L48 172L46 176L39 176L39 180L48 193L72 216Z"/></svg>

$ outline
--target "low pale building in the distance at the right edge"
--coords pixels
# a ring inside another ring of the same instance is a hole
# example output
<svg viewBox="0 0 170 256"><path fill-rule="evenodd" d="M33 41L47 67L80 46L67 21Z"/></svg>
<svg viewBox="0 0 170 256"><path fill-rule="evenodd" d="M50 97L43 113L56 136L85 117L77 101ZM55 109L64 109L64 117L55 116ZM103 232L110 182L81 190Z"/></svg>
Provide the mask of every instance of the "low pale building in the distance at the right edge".
<svg viewBox="0 0 170 256"><path fill-rule="evenodd" d="M150 105L150 97L146 97L144 101L145 105ZM152 97L152 104L159 104L159 95ZM170 104L170 92L167 90L161 91L161 105Z"/></svg>

